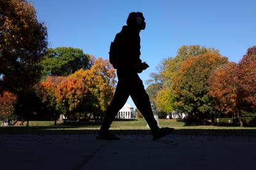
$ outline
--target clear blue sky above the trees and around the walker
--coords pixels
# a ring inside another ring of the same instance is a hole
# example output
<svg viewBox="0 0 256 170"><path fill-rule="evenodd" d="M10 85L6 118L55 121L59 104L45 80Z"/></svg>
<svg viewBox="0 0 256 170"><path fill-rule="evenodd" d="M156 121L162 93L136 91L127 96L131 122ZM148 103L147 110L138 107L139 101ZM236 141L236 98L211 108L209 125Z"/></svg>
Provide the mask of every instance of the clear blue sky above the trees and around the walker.
<svg viewBox="0 0 256 170"><path fill-rule="evenodd" d="M49 47L72 46L108 58L109 45L126 24L130 12L142 12L141 59L150 68L145 82L163 59L175 56L182 45L216 48L238 62L256 45L254 0L29 0L37 18L48 28ZM128 103L134 106L131 100Z"/></svg>

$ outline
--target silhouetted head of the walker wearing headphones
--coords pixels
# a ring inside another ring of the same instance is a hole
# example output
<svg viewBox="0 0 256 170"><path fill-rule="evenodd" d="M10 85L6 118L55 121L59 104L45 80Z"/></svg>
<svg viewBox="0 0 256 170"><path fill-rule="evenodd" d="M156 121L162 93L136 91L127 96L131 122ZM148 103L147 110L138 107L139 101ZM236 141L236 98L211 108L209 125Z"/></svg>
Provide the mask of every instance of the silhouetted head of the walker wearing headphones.
<svg viewBox="0 0 256 170"><path fill-rule="evenodd" d="M130 28L145 29L145 18L141 12L131 12L126 23Z"/></svg>

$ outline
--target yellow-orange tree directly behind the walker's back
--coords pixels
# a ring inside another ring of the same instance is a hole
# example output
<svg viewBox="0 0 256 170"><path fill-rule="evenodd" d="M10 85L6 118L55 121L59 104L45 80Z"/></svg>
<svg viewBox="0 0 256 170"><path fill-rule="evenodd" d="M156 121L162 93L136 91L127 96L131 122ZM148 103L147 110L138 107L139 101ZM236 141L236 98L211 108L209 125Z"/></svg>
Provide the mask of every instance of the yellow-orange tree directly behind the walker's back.
<svg viewBox="0 0 256 170"><path fill-rule="evenodd" d="M71 76L82 79L87 84L90 95L90 111L101 115L109 106L115 90L115 69L109 60L93 59L93 65L90 69L80 69Z"/></svg>

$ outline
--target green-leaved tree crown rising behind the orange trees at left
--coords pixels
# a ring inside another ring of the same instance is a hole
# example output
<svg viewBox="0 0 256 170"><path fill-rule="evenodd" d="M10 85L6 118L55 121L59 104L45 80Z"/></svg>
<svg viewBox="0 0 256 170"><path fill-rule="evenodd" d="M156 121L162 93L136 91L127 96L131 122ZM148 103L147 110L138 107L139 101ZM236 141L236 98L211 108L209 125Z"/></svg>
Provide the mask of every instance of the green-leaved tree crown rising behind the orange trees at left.
<svg viewBox="0 0 256 170"><path fill-rule="evenodd" d="M90 68L90 56L77 48L49 48L41 63L44 75L68 76L80 68Z"/></svg>

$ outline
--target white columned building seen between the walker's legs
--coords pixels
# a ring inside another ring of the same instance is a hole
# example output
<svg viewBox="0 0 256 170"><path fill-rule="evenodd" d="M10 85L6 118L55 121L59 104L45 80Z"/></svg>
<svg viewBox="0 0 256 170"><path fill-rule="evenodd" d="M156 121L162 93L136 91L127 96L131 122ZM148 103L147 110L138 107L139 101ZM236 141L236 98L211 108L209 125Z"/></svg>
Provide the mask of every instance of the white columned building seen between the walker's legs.
<svg viewBox="0 0 256 170"><path fill-rule="evenodd" d="M136 119L136 113L134 113L133 107L128 103L125 103L122 109L118 111L115 119Z"/></svg>

